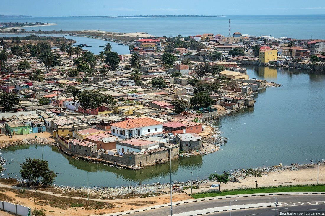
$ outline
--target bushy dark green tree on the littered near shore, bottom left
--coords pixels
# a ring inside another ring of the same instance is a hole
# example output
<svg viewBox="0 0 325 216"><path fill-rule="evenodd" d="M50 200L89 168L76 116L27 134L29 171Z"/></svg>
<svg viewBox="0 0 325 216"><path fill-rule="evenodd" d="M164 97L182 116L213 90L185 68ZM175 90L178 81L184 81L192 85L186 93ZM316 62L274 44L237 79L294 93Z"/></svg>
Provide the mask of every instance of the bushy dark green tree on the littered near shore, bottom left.
<svg viewBox="0 0 325 216"><path fill-rule="evenodd" d="M53 170L49 169L48 162L39 158L26 158L26 161L19 165L20 175L23 179L28 180L28 184L37 185L40 181L43 186L48 186L53 184L57 176Z"/></svg>

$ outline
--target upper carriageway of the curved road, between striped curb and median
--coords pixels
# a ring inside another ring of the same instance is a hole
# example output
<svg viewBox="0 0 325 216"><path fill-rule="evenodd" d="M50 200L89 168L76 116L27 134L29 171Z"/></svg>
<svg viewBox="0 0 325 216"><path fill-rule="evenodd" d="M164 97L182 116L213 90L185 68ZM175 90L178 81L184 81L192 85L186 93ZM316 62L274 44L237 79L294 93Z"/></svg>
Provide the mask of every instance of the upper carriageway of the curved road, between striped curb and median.
<svg viewBox="0 0 325 216"><path fill-rule="evenodd" d="M310 203L314 202L314 201L325 202L324 195L280 195L280 196L277 196L277 198L280 203L285 203L284 205L291 203L291 202L310 202ZM243 197L243 198L234 198L234 199L236 199L237 202L233 202L232 205L274 202L273 196ZM209 200L209 201L201 201L201 202L177 205L177 206L173 206L173 214L194 211L194 210L203 210L202 211L202 213L203 213L204 209L228 206L229 201L234 200L234 199L228 198L228 199ZM320 204L320 205L325 206L325 203ZM291 204L288 204L287 206L298 206L298 204L293 205L293 203L291 203ZM310 205L310 206L314 206L314 205ZM287 208L287 207L285 207L285 208ZM311 209L313 209L313 208L311 208ZM240 210L238 210L238 211L240 211ZM245 211L245 210L242 210L242 211ZM235 211L233 211L233 212L235 212ZM213 215L220 215L220 214L227 215L224 213L216 213ZM229 212L228 212L228 214L229 214ZM144 212L134 213L132 215L134 215L134 216L158 216L158 215L159 216L167 216L167 215L170 215L170 207L165 207L165 208L155 209L155 210L148 210L148 211L144 211ZM242 215L242 214L238 214L238 215Z"/></svg>

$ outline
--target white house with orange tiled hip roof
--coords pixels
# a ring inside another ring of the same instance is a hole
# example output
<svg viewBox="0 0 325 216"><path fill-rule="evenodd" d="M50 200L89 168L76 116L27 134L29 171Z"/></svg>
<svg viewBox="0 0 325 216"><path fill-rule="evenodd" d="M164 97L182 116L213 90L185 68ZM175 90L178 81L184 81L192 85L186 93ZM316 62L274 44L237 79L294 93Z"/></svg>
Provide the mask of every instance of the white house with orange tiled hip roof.
<svg viewBox="0 0 325 216"><path fill-rule="evenodd" d="M162 122L151 118L128 119L111 124L111 134L122 139L134 137L161 137Z"/></svg>

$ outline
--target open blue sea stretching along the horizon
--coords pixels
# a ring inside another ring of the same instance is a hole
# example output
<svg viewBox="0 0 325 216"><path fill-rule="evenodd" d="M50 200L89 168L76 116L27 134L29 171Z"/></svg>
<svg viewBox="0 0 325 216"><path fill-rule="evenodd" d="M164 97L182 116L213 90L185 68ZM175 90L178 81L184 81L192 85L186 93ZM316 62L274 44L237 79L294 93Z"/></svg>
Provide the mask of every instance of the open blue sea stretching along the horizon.
<svg viewBox="0 0 325 216"><path fill-rule="evenodd" d="M228 35L231 33L255 36L272 35L289 38L324 39L325 15L274 15L224 17L157 17L157 18L104 18L104 17L29 17L0 18L0 22L48 22L56 26L27 27L27 30L104 30L113 32L148 32L156 36L188 36L203 33Z"/></svg>

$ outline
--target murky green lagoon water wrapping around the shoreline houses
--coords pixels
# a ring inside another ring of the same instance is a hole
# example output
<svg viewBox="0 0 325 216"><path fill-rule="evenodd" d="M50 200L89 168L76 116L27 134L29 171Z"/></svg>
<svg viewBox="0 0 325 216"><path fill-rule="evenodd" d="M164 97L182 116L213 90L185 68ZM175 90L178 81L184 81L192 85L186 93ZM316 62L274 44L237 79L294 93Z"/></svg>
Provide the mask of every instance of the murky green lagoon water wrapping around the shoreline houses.
<svg viewBox="0 0 325 216"><path fill-rule="evenodd" d="M238 168L273 166L282 163L309 163L325 159L325 74L298 69L248 68L250 78L275 81L283 86L267 88L255 96L254 107L223 116L215 124L228 142L212 154L185 157L172 162L173 180L204 179L210 173ZM19 177L25 157L42 157L34 145L1 150L9 164L4 176ZM58 173L56 184L121 186L169 181L169 163L134 171L103 164L87 163L60 154L45 146L43 158ZM213 164L213 165L212 165Z"/></svg>

